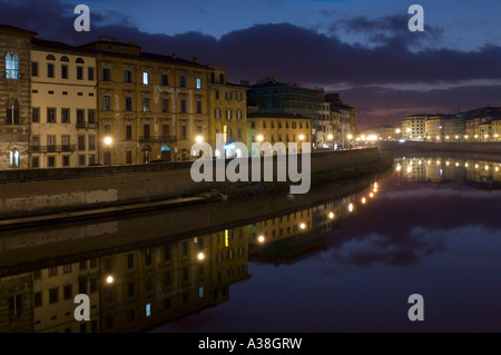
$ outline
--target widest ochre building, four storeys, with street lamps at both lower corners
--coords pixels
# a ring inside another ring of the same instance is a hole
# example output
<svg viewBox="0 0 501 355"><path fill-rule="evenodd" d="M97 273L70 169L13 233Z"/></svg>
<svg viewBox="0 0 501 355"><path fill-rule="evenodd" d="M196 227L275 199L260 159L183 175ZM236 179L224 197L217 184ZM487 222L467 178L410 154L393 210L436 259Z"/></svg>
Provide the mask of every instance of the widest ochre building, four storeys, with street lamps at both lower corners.
<svg viewBox="0 0 501 355"><path fill-rule="evenodd" d="M100 160L190 159L191 146L208 135L208 67L111 38L85 48L97 55Z"/></svg>

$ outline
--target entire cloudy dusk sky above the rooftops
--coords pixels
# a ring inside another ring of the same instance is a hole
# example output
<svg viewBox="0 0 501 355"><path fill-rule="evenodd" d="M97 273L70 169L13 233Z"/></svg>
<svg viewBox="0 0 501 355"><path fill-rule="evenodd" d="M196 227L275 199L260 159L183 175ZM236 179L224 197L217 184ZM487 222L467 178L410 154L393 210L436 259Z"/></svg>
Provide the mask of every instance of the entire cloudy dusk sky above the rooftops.
<svg viewBox="0 0 501 355"><path fill-rule="evenodd" d="M90 32L73 30L78 3L90 7ZM423 32L407 29L413 3ZM111 36L225 66L235 82L276 73L340 92L358 129L501 106L500 13L498 0L0 0L0 23L39 38Z"/></svg>

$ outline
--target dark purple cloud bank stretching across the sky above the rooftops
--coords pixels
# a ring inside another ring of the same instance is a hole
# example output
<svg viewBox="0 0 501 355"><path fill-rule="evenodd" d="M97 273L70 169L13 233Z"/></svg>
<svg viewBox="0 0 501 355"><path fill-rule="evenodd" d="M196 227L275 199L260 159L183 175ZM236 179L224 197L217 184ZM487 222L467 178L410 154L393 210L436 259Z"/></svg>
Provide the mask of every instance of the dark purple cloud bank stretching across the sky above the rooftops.
<svg viewBox="0 0 501 355"><path fill-rule="evenodd" d="M196 57L202 63L226 67L233 81L246 79L253 82L275 72L284 81L326 88L348 83L342 97L358 108L362 125L377 118L379 121L390 118L396 121L420 106L446 109L460 103L468 107L501 105L495 93L499 86L416 91L422 83L439 87L442 81L501 79L501 48L484 46L469 52L426 49L425 43L439 38L442 30L429 26L425 33L415 36L418 33L405 30L407 17L344 19L336 22L337 28L331 28L331 34L289 23L256 24L216 39L199 32L175 36L141 32L130 19L102 12L105 10L92 11L91 32L76 32L73 7L75 3L58 0L0 0L0 22L35 30L43 39L72 45L110 36L124 42L136 42L144 51L176 53L186 59ZM343 42L340 39L342 31L366 34L376 46L367 48ZM410 51L410 46L422 48ZM403 91L381 88L389 83L407 86ZM384 114L382 108L393 114L374 115L375 111Z"/></svg>

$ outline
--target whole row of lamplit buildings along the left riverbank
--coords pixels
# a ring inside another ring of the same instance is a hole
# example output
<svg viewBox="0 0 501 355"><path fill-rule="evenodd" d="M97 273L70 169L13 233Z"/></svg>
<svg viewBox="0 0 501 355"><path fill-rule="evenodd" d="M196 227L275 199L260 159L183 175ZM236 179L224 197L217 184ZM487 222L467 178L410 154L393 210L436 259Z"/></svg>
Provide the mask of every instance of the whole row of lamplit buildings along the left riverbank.
<svg viewBox="0 0 501 355"><path fill-rule="evenodd" d="M80 47L0 26L0 169L193 159L196 141L345 145L355 110L267 78L227 81L226 69L147 53L101 37Z"/></svg>

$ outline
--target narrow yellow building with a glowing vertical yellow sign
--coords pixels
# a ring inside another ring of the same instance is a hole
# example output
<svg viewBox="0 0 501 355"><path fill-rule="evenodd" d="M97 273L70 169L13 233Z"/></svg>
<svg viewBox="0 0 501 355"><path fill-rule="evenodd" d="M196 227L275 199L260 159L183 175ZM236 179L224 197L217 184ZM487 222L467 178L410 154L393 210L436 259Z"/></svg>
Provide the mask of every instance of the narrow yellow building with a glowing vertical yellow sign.
<svg viewBox="0 0 501 355"><path fill-rule="evenodd" d="M216 135L224 135L226 157L235 157L238 151L232 144L247 140L246 87L227 82L225 68L210 67L209 76L208 142L216 149Z"/></svg>

